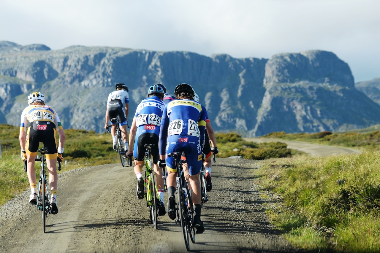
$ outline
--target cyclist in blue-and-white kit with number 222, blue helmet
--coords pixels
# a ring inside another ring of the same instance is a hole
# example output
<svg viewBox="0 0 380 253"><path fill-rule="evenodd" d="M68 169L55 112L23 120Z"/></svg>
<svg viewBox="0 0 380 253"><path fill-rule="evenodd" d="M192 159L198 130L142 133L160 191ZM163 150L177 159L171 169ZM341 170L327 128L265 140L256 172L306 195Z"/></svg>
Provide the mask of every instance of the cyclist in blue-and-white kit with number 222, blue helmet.
<svg viewBox="0 0 380 253"><path fill-rule="evenodd" d="M158 214L165 215L166 209L164 199L164 180L162 170L159 169L158 162L158 134L160 134L160 123L162 111L165 104L162 102L164 91L160 85L152 85L148 89L148 98L142 100L137 106L135 116L129 133L129 150L127 156L133 153L135 161L135 174L138 180L136 194L139 199L144 198L144 178L142 177L142 166L144 164L145 144L155 144L152 148L153 170L157 179L158 194L160 203ZM133 145L133 143L135 143Z"/></svg>

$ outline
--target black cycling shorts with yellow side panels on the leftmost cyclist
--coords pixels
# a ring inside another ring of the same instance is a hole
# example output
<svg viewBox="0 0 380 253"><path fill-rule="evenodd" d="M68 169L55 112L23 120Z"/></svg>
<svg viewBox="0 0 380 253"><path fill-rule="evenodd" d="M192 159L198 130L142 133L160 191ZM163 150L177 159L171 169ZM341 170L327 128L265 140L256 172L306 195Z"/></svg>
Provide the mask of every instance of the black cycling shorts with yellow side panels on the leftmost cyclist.
<svg viewBox="0 0 380 253"><path fill-rule="evenodd" d="M36 155L40 142L44 144L44 148L49 150L46 152L46 158L54 159L48 156L54 154L57 156L57 141L55 139L55 124L50 121L33 121L30 122L26 132L25 149L29 155Z"/></svg>

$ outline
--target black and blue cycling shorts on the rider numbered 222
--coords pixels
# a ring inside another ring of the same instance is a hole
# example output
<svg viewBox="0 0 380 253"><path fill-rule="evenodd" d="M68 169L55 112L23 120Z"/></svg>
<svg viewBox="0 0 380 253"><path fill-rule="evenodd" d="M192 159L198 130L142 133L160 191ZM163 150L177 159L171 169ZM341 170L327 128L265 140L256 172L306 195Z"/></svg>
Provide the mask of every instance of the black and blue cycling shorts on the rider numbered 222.
<svg viewBox="0 0 380 253"><path fill-rule="evenodd" d="M139 135L135 146L134 146L134 154L133 158L136 161L144 160L144 155L146 148L144 148L145 144L154 144L155 146L151 149L153 163L158 163L158 158L160 158L158 153L158 135L155 133L143 133Z"/></svg>

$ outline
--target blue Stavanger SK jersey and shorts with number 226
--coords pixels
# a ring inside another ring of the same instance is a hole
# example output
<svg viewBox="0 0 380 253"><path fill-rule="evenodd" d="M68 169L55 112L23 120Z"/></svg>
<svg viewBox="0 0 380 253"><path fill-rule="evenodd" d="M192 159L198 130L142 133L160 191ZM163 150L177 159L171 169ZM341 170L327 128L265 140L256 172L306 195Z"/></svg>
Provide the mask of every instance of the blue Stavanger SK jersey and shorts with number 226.
<svg viewBox="0 0 380 253"><path fill-rule="evenodd" d="M165 154L166 166L176 171L171 152L185 152L190 175L199 173L207 112L194 100L179 99L169 102L163 111L159 149ZM167 137L167 138L166 138Z"/></svg>

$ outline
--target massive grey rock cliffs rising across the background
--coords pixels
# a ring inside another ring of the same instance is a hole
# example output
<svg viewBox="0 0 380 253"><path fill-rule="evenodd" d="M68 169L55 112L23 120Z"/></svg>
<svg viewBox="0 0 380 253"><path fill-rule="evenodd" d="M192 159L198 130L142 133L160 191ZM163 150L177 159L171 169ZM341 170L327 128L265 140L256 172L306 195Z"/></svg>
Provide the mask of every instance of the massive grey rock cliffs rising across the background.
<svg viewBox="0 0 380 253"><path fill-rule="evenodd" d="M132 121L150 85L173 94L191 84L216 131L261 136L339 131L380 123L380 105L354 85L347 63L326 51L277 54L271 59L206 57L116 47L0 42L0 123L19 124L28 93L39 90L64 128L104 131L106 100L114 84L129 87Z"/></svg>

